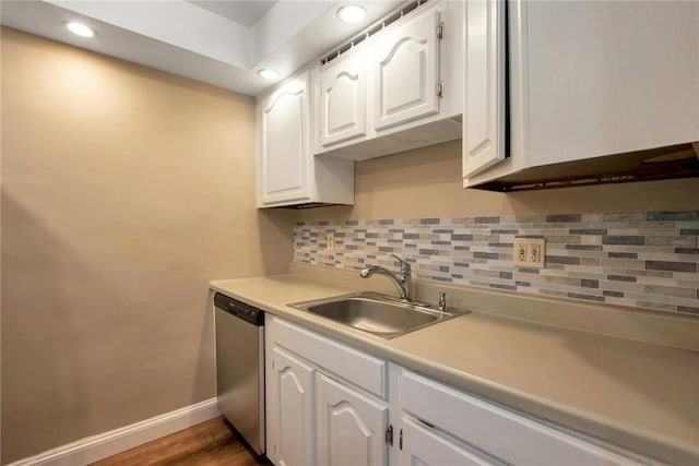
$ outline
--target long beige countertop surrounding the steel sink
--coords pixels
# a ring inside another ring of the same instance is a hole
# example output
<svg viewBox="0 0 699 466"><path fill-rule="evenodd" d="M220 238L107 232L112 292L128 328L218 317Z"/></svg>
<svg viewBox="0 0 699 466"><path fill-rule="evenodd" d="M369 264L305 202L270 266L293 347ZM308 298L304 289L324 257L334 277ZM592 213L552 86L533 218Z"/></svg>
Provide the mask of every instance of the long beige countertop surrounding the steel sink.
<svg viewBox="0 0 699 466"><path fill-rule="evenodd" d="M699 464L697 351L482 312L382 339L286 306L356 288L292 275L211 288L476 395L660 459Z"/></svg>

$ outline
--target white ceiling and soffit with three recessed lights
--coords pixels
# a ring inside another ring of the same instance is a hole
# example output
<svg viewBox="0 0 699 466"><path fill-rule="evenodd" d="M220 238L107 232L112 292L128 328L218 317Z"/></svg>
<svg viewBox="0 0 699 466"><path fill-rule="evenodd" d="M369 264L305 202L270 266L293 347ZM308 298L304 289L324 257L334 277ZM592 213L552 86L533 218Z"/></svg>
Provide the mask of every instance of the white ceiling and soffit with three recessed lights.
<svg viewBox="0 0 699 466"><path fill-rule="evenodd" d="M336 10L362 4L344 24ZM400 7L399 0L2 0L0 23L218 87L257 95ZM84 38L69 22L95 31ZM276 80L257 74L262 68Z"/></svg>

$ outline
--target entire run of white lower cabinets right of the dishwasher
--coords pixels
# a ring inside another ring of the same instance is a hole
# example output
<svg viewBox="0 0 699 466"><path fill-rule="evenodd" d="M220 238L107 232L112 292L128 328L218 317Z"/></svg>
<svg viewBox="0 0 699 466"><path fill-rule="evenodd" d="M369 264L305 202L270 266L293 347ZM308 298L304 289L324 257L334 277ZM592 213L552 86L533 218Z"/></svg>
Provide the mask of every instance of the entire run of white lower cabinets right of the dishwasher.
<svg viewBox="0 0 699 466"><path fill-rule="evenodd" d="M651 464L275 316L265 351L266 454L277 466Z"/></svg>

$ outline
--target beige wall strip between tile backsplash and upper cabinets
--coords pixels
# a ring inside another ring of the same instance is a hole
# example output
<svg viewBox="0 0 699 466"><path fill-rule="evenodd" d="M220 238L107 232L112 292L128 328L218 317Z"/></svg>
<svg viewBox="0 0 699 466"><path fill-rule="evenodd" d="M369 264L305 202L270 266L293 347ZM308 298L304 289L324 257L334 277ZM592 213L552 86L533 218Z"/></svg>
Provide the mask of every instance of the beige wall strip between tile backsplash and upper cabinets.
<svg viewBox="0 0 699 466"><path fill-rule="evenodd" d="M297 220L696 210L699 178L519 193L464 190L461 141L355 166L354 207L301 211Z"/></svg>

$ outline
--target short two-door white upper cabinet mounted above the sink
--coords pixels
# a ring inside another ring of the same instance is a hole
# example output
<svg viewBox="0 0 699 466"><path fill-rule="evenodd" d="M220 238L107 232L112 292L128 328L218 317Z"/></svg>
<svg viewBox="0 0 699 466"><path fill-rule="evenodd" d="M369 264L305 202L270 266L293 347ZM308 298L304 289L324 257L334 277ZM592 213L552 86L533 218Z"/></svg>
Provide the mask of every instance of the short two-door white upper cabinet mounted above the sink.
<svg viewBox="0 0 699 466"><path fill-rule="evenodd" d="M316 153L364 160L460 139L462 8L423 3L318 65Z"/></svg>

